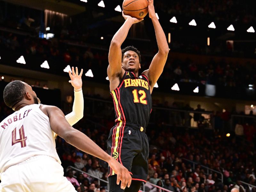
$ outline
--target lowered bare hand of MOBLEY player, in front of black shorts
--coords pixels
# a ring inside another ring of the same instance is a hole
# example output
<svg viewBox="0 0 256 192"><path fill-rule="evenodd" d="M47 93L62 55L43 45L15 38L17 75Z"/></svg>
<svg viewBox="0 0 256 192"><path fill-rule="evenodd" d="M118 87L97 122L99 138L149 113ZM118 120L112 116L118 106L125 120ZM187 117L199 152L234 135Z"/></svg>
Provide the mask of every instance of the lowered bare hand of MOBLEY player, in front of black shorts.
<svg viewBox="0 0 256 192"><path fill-rule="evenodd" d="M132 177L123 165L121 165L116 159L112 157L112 159L108 162L108 165L113 169L113 171L117 175L116 184L119 185L121 181L121 189L125 189L126 186L130 187L132 182Z"/></svg>

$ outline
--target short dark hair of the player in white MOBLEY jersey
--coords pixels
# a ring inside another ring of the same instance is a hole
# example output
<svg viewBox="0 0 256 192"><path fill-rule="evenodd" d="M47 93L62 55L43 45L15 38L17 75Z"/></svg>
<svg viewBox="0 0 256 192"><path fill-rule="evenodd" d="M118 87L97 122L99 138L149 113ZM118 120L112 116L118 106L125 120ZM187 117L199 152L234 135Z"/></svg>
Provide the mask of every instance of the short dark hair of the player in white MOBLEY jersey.
<svg viewBox="0 0 256 192"><path fill-rule="evenodd" d="M25 84L22 81L15 80L8 83L4 88L4 103L10 108L20 102L26 94Z"/></svg>

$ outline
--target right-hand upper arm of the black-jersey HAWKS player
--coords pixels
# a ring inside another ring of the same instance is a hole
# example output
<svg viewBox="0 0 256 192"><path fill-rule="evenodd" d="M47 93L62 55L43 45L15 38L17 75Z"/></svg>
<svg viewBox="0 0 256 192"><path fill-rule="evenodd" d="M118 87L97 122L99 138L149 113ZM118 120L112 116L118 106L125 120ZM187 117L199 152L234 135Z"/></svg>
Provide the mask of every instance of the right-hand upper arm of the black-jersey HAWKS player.
<svg viewBox="0 0 256 192"><path fill-rule="evenodd" d="M156 84L156 81L162 74L162 72L164 70L164 65L167 60L167 56L168 56L168 54L164 55L164 54L160 54L160 53L157 53L154 56L150 66L148 68L148 79L152 86L154 86Z"/></svg>

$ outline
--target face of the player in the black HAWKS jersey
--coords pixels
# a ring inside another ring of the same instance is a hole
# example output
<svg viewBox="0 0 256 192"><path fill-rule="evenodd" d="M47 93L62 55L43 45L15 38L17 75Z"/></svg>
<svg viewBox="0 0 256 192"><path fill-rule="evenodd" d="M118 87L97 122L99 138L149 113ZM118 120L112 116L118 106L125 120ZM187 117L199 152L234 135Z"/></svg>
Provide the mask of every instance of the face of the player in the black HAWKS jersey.
<svg viewBox="0 0 256 192"><path fill-rule="evenodd" d="M124 53L122 67L125 71L137 72L140 69L139 56L134 51Z"/></svg>

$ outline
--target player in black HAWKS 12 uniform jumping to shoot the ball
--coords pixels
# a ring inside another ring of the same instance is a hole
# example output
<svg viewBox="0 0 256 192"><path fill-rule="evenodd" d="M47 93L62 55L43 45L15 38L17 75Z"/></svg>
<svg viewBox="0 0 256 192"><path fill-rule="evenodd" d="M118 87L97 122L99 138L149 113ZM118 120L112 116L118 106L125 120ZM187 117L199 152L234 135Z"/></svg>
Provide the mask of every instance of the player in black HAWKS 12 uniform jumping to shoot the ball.
<svg viewBox="0 0 256 192"><path fill-rule="evenodd" d="M137 192L148 176L148 137L145 133L152 109L151 93L163 72L169 47L164 31L156 18L153 0L149 0L151 18L159 51L149 69L139 76L140 52L133 46L121 50L132 24L142 19L124 15L123 26L114 35L108 54L108 78L116 111L116 126L110 130L108 154L123 164L132 175L132 184L125 190L116 185L116 172L109 167L110 192Z"/></svg>

